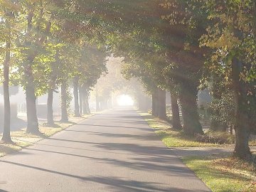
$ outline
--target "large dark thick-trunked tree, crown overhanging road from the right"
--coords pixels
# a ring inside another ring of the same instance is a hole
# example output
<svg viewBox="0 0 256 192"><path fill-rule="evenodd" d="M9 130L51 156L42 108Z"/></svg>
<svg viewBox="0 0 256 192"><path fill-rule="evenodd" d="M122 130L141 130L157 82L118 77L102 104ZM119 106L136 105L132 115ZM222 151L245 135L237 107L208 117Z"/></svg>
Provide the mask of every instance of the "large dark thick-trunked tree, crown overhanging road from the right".
<svg viewBox="0 0 256 192"><path fill-rule="evenodd" d="M198 38L202 33L201 22L196 22L195 27L193 23L196 19L190 21L191 16L186 16L186 23L182 23L183 15L179 17L177 15L186 12L189 6L183 4L183 1L180 4L175 1L178 10L168 9L169 12L166 13L171 12L175 16L175 22L170 25L170 22L161 20L165 9L161 9L159 3L160 1L139 1L139 3L129 1L124 6L118 4L117 1L109 2L109 6L117 7L114 16L120 18L116 23L110 22L119 29L118 33L111 35L110 46L115 55L124 56L127 63L146 65L146 68L150 69L148 71L158 72L154 75L154 78L159 78L157 81L159 84L156 87L164 87L166 78L175 79L172 82L178 84L182 92L180 95L183 95L181 106L184 108L184 129L188 134L203 134L196 105L201 69L204 63L203 49L199 48L198 43ZM144 6L134 8L134 5L140 4ZM202 15L201 11L197 18L201 18ZM138 16L139 20L136 19ZM149 17L152 18L150 23ZM133 27L127 28L128 24ZM169 68L169 66L176 67ZM171 71L163 75L165 68Z"/></svg>

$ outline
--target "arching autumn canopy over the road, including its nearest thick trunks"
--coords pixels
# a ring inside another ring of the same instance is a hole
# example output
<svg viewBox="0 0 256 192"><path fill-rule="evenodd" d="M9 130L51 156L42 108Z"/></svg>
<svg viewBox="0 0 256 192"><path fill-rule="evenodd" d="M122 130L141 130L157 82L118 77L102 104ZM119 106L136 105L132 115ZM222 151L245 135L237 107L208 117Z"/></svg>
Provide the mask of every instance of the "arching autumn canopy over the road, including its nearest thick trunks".
<svg viewBox="0 0 256 192"><path fill-rule="evenodd" d="M26 91L28 132L38 132L38 95L52 95L61 86L66 112L70 82L74 95L80 90L87 98L107 70L106 58L114 55L124 58L124 77L138 78L154 103L158 100L159 111L165 108L161 91L177 97L186 134L204 134L199 89L209 87L218 104L229 101L234 107L228 112L234 117L228 123L236 134L234 154L252 157L248 139L256 129L255 1L4 0L0 4L1 69L10 74L10 83ZM9 85L7 75L1 79ZM76 107L77 115L78 111ZM215 110L218 115L223 114L220 111Z"/></svg>

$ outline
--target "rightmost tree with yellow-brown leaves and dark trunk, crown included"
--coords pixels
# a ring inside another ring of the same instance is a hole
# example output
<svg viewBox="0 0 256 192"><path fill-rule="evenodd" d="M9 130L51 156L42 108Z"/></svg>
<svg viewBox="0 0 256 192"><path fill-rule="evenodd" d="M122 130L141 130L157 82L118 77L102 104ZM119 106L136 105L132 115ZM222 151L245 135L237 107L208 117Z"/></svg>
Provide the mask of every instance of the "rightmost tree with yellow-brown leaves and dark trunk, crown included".
<svg viewBox="0 0 256 192"><path fill-rule="evenodd" d="M255 119L255 1L204 1L213 25L201 45L212 48L209 70L225 73L235 104L235 150L241 159L252 159L248 146Z"/></svg>

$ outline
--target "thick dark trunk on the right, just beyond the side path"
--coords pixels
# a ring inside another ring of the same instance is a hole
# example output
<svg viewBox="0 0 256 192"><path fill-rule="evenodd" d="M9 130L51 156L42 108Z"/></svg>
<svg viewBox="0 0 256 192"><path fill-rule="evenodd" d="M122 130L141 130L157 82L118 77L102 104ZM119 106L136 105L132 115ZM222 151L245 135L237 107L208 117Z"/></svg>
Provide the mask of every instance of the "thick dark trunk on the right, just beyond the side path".
<svg viewBox="0 0 256 192"><path fill-rule="evenodd" d="M199 122L197 106L197 86L193 82L182 82L180 101L183 116L183 129L187 134L203 134L203 128Z"/></svg>

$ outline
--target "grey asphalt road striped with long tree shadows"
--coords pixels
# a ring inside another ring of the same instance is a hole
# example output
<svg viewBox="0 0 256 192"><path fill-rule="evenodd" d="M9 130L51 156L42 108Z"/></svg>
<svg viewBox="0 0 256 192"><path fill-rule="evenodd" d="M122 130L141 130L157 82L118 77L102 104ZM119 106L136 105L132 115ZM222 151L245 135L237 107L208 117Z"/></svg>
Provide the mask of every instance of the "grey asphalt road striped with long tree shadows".
<svg viewBox="0 0 256 192"><path fill-rule="evenodd" d="M2 191L210 191L134 110L116 109L0 158Z"/></svg>

